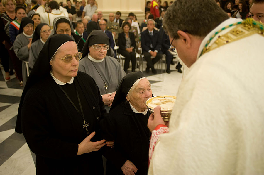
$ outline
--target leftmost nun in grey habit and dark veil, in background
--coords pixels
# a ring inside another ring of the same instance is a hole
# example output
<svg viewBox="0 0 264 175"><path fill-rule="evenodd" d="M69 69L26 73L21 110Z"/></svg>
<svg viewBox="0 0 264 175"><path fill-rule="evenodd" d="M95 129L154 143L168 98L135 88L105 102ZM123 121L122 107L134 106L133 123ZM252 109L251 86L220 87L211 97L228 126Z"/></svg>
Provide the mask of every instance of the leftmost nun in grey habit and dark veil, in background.
<svg viewBox="0 0 264 175"><path fill-rule="evenodd" d="M28 62L29 48L33 37L34 22L28 17L22 18L19 34L14 41L14 52L22 63L23 84L28 79L26 62Z"/></svg>

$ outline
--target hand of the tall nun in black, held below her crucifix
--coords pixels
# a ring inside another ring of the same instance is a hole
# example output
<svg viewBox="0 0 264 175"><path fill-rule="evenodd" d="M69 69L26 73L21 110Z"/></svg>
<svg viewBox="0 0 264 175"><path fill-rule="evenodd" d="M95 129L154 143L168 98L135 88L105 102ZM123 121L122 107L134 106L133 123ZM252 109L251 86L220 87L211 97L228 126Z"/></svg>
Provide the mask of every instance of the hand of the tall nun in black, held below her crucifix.
<svg viewBox="0 0 264 175"><path fill-rule="evenodd" d="M93 136L95 135L95 132L92 132L89 136L87 136L86 138L84 138L84 140L78 144L78 152L77 155L81 155L84 153L90 153L92 151L98 151L100 148L102 148L106 143L106 140L100 140L97 142L92 142L90 141Z"/></svg>

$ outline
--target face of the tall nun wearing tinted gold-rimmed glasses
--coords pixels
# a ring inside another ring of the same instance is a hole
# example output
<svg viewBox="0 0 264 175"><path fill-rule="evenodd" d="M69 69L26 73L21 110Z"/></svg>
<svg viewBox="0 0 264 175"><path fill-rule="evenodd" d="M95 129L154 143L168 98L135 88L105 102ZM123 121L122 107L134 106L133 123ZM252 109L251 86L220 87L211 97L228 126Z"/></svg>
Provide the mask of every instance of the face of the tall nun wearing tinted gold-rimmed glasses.
<svg viewBox="0 0 264 175"><path fill-rule="evenodd" d="M79 61L72 57L70 63L65 63L61 58L65 56L74 56L78 53L77 45L74 41L63 44L54 58L50 61L51 72L58 80L62 82L69 82L72 77L77 76Z"/></svg>

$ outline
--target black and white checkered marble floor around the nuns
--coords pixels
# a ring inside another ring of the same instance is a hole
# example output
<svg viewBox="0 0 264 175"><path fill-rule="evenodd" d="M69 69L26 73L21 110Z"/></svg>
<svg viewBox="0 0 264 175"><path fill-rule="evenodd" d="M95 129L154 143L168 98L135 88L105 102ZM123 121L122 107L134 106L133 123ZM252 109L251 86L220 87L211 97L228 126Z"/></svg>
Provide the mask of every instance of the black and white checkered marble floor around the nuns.
<svg viewBox="0 0 264 175"><path fill-rule="evenodd" d="M161 73L161 67L157 65L158 74L152 74L145 72L146 63L143 62L143 73L152 84L154 96L176 96L182 74L177 72L175 66L170 65L171 73L167 74ZM3 67L0 68L0 175L35 174L35 155L28 148L23 135L14 131L23 88L14 76L6 81Z"/></svg>

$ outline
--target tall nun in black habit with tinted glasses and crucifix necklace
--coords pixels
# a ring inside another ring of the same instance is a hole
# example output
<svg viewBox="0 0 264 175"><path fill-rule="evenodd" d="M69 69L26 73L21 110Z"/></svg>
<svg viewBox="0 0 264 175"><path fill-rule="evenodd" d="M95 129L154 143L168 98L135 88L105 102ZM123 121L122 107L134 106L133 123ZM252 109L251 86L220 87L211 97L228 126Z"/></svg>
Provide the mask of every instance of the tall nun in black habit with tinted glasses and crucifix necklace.
<svg viewBox="0 0 264 175"><path fill-rule="evenodd" d="M77 72L80 58L69 35L51 36L22 93L15 131L36 154L37 174L104 174L98 150L107 144L99 134L106 110L92 77Z"/></svg>

